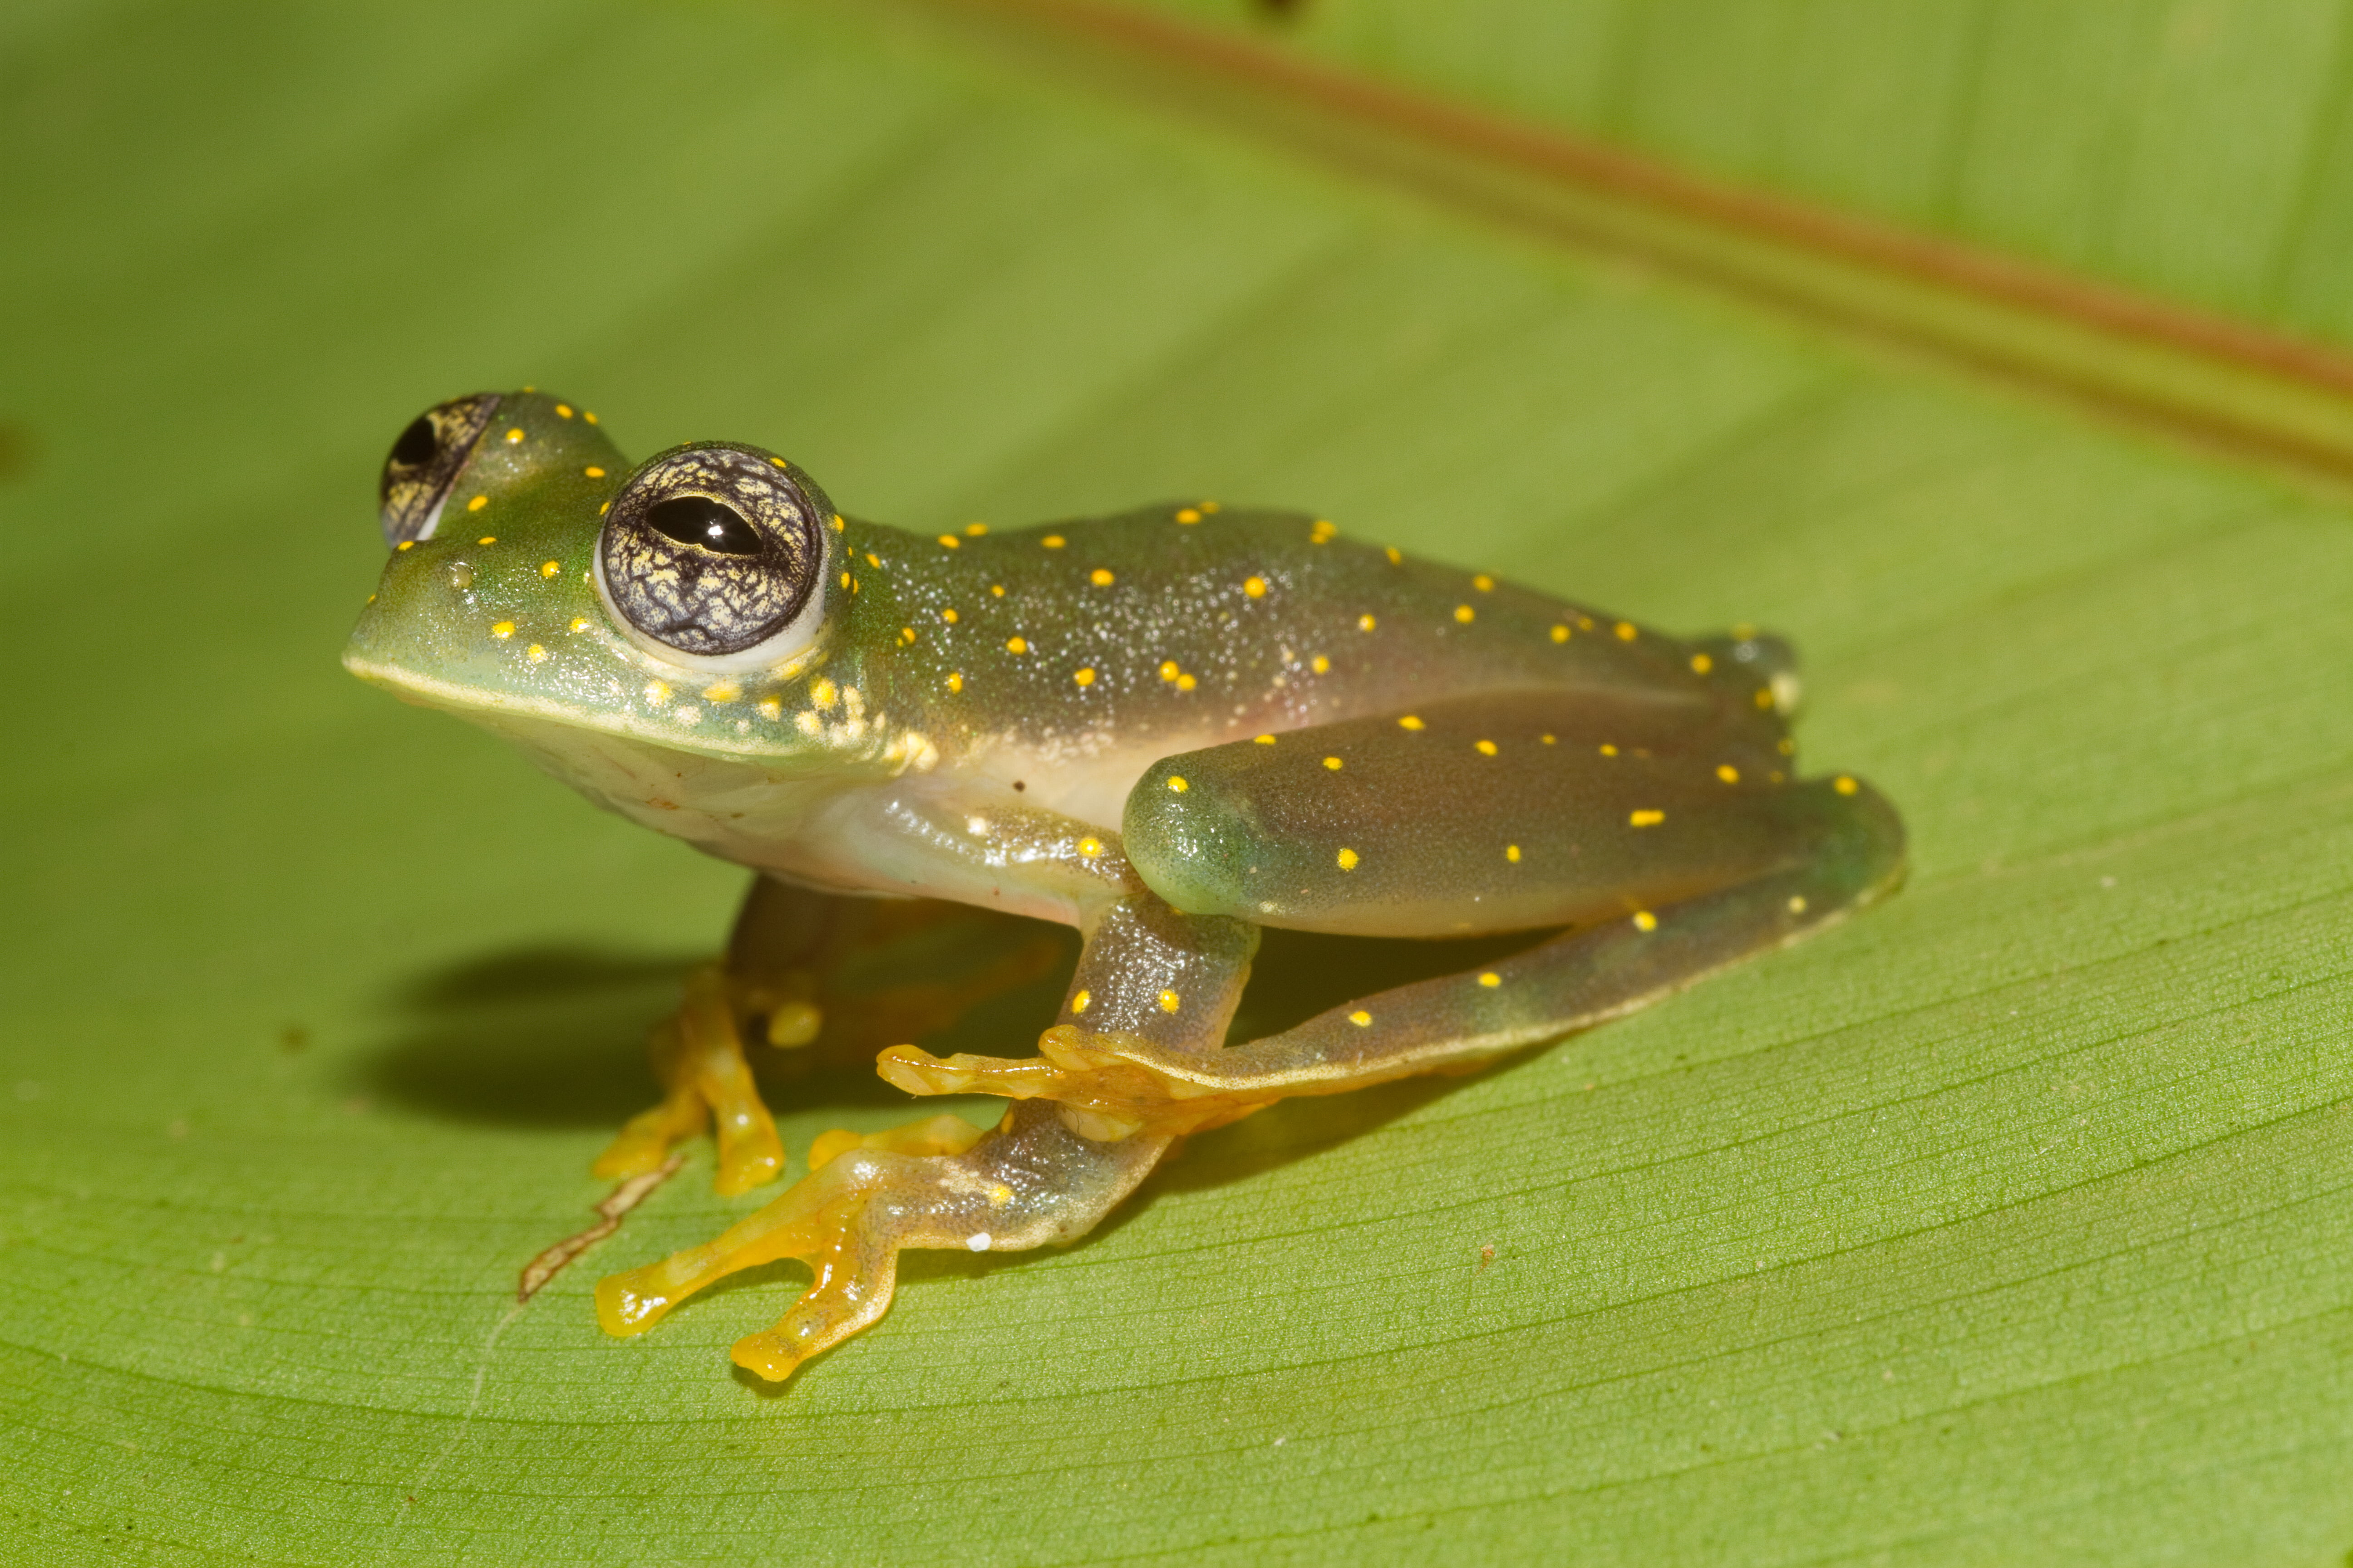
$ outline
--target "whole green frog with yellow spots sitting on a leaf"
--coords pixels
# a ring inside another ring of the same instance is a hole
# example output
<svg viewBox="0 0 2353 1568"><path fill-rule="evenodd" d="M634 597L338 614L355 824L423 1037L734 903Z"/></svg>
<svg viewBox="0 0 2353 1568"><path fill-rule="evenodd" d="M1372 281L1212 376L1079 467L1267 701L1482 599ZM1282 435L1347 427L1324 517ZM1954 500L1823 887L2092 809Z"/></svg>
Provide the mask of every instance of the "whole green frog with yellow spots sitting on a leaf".
<svg viewBox="0 0 2353 1568"><path fill-rule="evenodd" d="M1179 498L920 534L765 447L633 463L522 388L405 425L379 522L353 675L753 872L725 957L654 1030L659 1103L598 1175L645 1180L711 1128L720 1192L779 1180L755 1053L856 1039L824 971L875 931L1078 936L1028 1053L873 1051L908 1095L1002 1098L993 1126L831 1131L767 1206L598 1284L602 1328L640 1335L802 1262L809 1286L732 1349L767 1382L873 1326L906 1248L1073 1244L1188 1138L1558 1041L1904 872L1880 790L1800 773L1786 639L1675 637L1318 512ZM1228 1039L1264 931L1525 945ZM969 1004L934 983L880 1027Z"/></svg>

